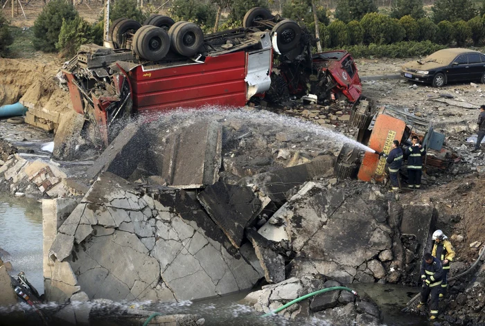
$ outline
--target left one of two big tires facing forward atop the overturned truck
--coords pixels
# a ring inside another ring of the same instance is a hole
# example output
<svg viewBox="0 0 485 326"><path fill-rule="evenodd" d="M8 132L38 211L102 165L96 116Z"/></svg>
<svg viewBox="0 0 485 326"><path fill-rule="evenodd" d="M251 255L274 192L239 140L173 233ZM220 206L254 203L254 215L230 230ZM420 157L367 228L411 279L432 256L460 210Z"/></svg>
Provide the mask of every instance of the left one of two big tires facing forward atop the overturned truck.
<svg viewBox="0 0 485 326"><path fill-rule="evenodd" d="M163 28L147 26L139 29L134 37L134 51L145 60L159 61L164 59L170 49L170 37Z"/></svg>

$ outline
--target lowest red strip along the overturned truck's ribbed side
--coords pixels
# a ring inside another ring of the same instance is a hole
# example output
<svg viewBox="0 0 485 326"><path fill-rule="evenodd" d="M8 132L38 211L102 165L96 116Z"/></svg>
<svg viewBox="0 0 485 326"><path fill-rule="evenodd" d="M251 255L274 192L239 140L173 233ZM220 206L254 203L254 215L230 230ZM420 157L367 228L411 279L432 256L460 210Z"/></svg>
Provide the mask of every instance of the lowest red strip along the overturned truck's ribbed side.
<svg viewBox="0 0 485 326"><path fill-rule="evenodd" d="M242 107L246 103L245 93L233 93L221 96L212 96L211 98L197 98L195 100L186 100L179 102L170 102L164 105L154 105L151 107L139 107L139 114L150 114L152 111L166 111L175 108L194 108L203 107L204 105L223 105L228 107Z"/></svg>

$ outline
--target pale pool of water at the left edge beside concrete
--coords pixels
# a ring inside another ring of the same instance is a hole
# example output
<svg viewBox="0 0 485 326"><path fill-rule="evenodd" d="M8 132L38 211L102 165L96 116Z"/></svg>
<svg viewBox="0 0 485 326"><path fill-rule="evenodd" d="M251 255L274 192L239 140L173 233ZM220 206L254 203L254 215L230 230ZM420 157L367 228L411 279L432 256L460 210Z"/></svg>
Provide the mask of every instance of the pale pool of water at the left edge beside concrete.
<svg viewBox="0 0 485 326"><path fill-rule="evenodd" d="M41 203L0 194L0 248L10 253L1 255L12 263L10 275L24 271L37 291L44 293Z"/></svg>

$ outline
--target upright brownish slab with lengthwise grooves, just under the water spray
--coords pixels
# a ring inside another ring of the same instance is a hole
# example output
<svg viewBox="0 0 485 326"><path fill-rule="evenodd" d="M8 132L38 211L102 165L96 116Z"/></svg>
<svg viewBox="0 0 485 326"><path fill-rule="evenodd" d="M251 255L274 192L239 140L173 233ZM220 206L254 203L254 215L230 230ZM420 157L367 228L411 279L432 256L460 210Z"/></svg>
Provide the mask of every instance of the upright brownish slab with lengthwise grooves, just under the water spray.
<svg viewBox="0 0 485 326"><path fill-rule="evenodd" d="M161 176L175 188L201 188L218 179L222 126L203 121L170 135Z"/></svg>

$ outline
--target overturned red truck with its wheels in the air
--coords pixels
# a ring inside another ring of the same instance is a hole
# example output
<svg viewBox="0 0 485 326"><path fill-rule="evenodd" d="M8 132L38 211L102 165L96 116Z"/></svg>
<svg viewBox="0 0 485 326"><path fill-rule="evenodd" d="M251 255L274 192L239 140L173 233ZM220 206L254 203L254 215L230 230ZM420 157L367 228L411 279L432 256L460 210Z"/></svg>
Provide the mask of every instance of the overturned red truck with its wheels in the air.
<svg viewBox="0 0 485 326"><path fill-rule="evenodd" d="M161 15L143 26L118 19L109 28L109 47L82 46L64 64L73 108L100 127L107 145L116 136L110 126L135 113L242 107L270 87L276 94L314 93L322 102L340 94L355 102L362 93L351 55L312 55L315 39L295 21L258 7L243 26L204 35L196 24ZM274 55L279 66L273 67Z"/></svg>

